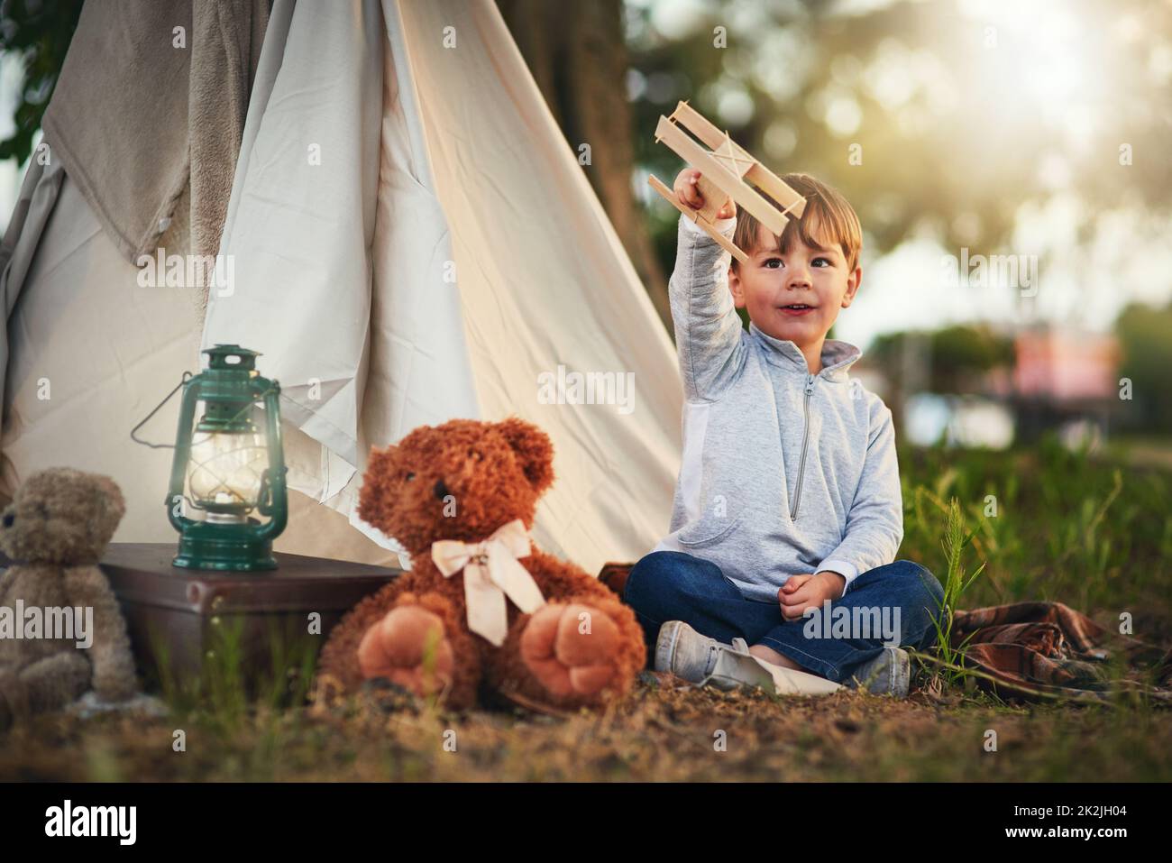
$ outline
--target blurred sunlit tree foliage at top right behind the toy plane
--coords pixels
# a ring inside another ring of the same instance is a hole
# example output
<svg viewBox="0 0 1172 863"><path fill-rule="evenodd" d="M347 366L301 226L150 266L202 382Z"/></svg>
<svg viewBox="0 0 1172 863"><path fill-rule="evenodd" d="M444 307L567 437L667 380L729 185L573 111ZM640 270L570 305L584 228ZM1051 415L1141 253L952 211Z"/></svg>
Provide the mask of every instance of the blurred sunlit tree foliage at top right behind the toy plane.
<svg viewBox="0 0 1172 863"><path fill-rule="evenodd" d="M1113 209L1170 213L1172 4L628 0L627 38L639 169L680 169L653 135L688 100L777 174L838 188L867 257L920 235L1033 253L1022 209L1050 201L1081 249ZM666 265L675 219L654 202Z"/></svg>

